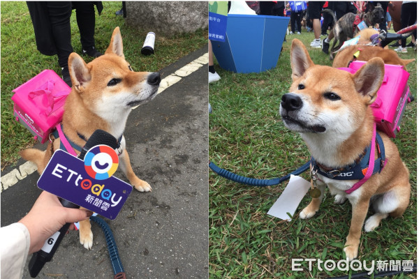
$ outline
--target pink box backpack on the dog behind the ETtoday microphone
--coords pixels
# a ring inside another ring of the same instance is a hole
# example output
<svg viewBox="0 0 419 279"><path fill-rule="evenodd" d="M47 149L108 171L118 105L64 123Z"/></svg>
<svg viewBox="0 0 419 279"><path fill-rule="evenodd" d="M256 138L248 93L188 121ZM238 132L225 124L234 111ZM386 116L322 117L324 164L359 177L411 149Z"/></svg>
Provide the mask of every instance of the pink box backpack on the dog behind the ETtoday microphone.
<svg viewBox="0 0 419 279"><path fill-rule="evenodd" d="M70 91L71 88L53 70L43 70L13 90L13 115L36 140L44 143L61 122Z"/></svg>

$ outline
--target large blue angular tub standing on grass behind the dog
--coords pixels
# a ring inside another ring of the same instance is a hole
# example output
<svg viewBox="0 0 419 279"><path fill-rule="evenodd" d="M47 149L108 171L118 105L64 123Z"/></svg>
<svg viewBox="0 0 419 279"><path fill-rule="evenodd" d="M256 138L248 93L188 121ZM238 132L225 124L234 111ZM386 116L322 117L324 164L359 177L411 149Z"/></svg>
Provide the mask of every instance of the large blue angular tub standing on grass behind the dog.
<svg viewBox="0 0 419 279"><path fill-rule="evenodd" d="M235 73L260 73L277 66L289 17L228 15L226 41L212 40L221 68Z"/></svg>

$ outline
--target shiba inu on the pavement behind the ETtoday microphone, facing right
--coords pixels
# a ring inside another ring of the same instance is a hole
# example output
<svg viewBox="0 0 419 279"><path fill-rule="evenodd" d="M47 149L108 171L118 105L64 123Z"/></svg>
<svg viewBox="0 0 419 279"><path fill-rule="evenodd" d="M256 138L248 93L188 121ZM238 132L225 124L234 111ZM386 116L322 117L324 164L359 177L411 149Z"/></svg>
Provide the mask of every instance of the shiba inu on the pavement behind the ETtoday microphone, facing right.
<svg viewBox="0 0 419 279"><path fill-rule="evenodd" d="M90 63L76 53L68 57L73 87L64 105L62 127L68 140L84 146L95 130L101 129L119 140L119 166L133 187L140 192L151 191L149 183L133 172L125 149L123 136L126 120L132 108L152 100L159 89L159 73L134 72L125 60L119 27L112 33L105 54ZM50 142L46 151L26 149L21 156L38 166L41 174L60 140ZM80 222L80 243L90 249L93 245L89 220Z"/></svg>

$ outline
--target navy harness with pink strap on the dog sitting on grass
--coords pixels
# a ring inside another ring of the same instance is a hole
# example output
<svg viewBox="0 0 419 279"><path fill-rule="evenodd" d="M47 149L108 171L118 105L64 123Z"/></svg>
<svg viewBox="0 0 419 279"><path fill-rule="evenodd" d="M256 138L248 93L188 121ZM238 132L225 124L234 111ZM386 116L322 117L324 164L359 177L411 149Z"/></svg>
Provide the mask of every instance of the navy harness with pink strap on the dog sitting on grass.
<svg viewBox="0 0 419 279"><path fill-rule="evenodd" d="M357 160L355 160L354 163L340 169L334 169L317 163L316 160L311 157L311 165L314 167L314 170L316 170L318 174L328 177L329 179L360 180L355 183L351 189L345 191L348 194L360 188L360 186L362 186L362 184L365 183L365 181L367 181L372 174L381 172L386 163L383 139L378 133L376 133L375 129L374 125L374 133L371 144L367 146L365 151ZM378 158L376 160L374 160L375 146L378 150ZM369 156L367 156L367 154L369 154ZM360 183L361 181L362 183Z"/></svg>

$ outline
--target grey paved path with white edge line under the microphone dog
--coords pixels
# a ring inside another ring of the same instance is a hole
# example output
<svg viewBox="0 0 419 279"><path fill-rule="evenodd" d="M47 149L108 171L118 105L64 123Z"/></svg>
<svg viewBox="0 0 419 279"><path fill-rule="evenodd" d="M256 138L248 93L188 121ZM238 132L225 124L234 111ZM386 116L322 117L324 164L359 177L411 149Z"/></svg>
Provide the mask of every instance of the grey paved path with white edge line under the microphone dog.
<svg viewBox="0 0 419 279"><path fill-rule="evenodd" d="M128 118L124 135L133 169L153 191L133 190L119 216L106 220L126 278L208 276L206 53L207 46L161 70L166 89ZM1 172L2 227L22 218L41 193L38 174L23 163ZM115 176L124 179L121 172ZM95 223L92 231L92 250L70 232L38 278L113 278L103 232ZM24 278L30 278L27 270Z"/></svg>

